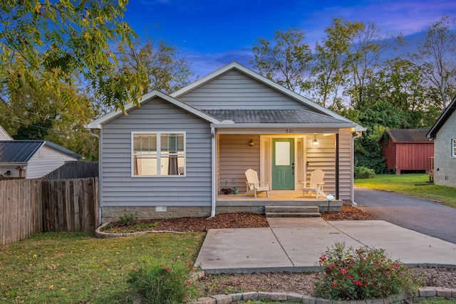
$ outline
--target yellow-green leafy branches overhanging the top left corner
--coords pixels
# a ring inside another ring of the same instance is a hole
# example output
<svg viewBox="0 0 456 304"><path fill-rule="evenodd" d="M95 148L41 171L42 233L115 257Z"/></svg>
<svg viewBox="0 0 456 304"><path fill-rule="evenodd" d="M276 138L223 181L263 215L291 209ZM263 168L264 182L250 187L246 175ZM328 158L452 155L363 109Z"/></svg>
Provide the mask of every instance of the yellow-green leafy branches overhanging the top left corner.
<svg viewBox="0 0 456 304"><path fill-rule="evenodd" d="M23 88L51 88L66 98L60 82L88 85L95 98L116 108L137 103L145 73L118 73L110 43L135 36L123 21L128 0L0 1L1 98ZM71 100L66 100L71 103Z"/></svg>

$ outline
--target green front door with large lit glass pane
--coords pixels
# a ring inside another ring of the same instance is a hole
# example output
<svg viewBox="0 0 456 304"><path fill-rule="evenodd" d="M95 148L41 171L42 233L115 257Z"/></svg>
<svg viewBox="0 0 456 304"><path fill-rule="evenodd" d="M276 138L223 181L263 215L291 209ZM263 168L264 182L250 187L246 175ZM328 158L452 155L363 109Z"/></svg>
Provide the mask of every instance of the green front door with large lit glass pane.
<svg viewBox="0 0 456 304"><path fill-rule="evenodd" d="M272 139L272 189L294 190L294 139Z"/></svg>

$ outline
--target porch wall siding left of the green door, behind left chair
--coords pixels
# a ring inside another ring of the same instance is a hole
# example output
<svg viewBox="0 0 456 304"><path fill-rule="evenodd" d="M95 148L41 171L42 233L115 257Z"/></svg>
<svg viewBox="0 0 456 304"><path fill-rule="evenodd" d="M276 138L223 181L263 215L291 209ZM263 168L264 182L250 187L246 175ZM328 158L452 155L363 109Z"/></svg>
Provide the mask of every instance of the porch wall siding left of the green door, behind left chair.
<svg viewBox="0 0 456 304"><path fill-rule="evenodd" d="M249 145L250 140L254 141L253 146ZM247 169L260 174L259 146L259 135L219 135L219 189L236 187L242 193L247 190Z"/></svg>

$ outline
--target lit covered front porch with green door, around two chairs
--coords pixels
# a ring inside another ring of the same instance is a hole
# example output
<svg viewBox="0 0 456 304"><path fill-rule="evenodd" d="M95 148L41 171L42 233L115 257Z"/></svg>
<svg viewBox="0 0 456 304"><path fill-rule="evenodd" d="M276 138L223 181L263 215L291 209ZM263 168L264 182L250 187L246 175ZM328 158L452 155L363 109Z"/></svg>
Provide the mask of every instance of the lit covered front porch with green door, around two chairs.
<svg viewBox="0 0 456 304"><path fill-rule="evenodd" d="M341 170L339 169L339 132L309 132L300 130L293 134L279 130L261 130L260 134L241 130L219 130L217 134L217 197L216 213L254 212L266 213L266 206L318 207L318 211L341 211L345 197L341 197ZM274 134L273 132L276 132ZM344 137L351 140L351 133L343 130ZM236 133L236 134L234 134ZM318 142L318 144L316 144ZM351 143L350 141L348 142ZM344 147L346 142L343 142ZM280 148L280 149L279 149ZM345 157L344 157L345 160ZM351 183L351 162L343 164L343 176ZM265 193L245 196L247 192L247 169L254 169L261 182L269 185L269 197ZM333 194L329 204L326 195L316 193L303 197L304 182L310 180L311 173L320 169L324 172L323 192ZM346 172L345 169L348 169ZM229 189L230 194L224 194ZM232 194L237 189L238 194ZM343 189L345 192L346 189ZM348 196L349 197L349 196ZM299 208L295 208L300 212ZM304 209L304 208L301 208Z"/></svg>

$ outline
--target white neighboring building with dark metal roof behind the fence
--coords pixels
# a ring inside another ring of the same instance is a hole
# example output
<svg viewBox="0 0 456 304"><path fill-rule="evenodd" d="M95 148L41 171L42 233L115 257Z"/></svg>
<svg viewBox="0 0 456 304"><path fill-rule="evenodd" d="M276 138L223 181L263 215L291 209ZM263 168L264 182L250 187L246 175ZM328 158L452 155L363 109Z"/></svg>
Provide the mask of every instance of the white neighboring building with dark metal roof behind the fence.
<svg viewBox="0 0 456 304"><path fill-rule="evenodd" d="M43 177L81 155L45 140L0 140L0 178Z"/></svg>

